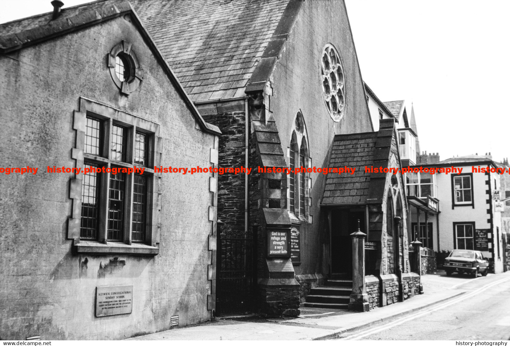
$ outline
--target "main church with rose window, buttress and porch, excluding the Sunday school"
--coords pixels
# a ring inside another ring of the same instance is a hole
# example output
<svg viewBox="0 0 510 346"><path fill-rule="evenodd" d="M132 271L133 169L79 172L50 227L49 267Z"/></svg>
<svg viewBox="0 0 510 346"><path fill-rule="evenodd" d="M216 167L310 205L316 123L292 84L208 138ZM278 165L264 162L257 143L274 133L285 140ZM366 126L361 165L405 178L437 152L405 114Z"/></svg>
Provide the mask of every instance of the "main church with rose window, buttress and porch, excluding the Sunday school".
<svg viewBox="0 0 510 346"><path fill-rule="evenodd" d="M190 5L133 2L200 114L222 131L219 165L252 169L218 177L215 313L366 310L366 292L354 302L348 280L358 230L377 275L370 304L417 292L402 177L365 172L398 168L400 158L393 120L373 132L344 2ZM275 255L289 229L288 253ZM325 299L315 287L326 279L347 293Z"/></svg>

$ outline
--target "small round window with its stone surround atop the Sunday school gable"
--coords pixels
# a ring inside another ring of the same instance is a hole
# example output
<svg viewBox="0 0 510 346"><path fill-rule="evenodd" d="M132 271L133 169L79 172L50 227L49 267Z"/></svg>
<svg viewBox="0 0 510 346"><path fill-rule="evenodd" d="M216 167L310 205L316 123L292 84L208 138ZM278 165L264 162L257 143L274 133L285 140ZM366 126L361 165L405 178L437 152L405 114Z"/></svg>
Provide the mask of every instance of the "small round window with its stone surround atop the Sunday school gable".
<svg viewBox="0 0 510 346"><path fill-rule="evenodd" d="M122 41L112 48L108 58L108 67L113 82L123 94L135 91L143 79L143 70L131 48L131 44Z"/></svg>

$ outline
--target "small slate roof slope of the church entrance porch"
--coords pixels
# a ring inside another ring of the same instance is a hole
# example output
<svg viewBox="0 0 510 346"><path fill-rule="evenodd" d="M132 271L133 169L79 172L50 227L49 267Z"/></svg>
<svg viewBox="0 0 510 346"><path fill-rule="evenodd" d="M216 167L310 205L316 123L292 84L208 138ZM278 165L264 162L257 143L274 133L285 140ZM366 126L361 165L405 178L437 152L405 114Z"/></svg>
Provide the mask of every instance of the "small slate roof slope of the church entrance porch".
<svg viewBox="0 0 510 346"><path fill-rule="evenodd" d="M322 205L365 204L370 186L370 173L365 166L371 166L375 156L377 132L336 135L329 159L329 167L355 167L354 174L330 173Z"/></svg>

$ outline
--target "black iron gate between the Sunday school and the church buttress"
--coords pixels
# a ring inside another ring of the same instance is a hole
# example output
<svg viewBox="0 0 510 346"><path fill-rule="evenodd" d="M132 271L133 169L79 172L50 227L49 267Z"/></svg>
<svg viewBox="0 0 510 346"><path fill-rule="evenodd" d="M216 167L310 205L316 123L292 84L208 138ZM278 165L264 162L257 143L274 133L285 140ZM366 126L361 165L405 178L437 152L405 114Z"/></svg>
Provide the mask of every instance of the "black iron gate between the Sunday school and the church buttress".
<svg viewBox="0 0 510 346"><path fill-rule="evenodd" d="M253 311L255 292L254 246L251 235L219 235L216 313L238 315Z"/></svg>

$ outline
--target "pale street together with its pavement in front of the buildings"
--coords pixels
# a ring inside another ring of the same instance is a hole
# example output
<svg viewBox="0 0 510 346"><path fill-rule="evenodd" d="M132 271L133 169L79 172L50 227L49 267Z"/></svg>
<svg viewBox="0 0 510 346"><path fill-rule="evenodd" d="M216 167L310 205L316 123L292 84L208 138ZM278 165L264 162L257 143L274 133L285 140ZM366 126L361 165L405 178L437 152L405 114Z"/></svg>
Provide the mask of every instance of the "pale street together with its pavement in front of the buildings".
<svg viewBox="0 0 510 346"><path fill-rule="evenodd" d="M233 318L171 329L133 340L507 340L510 271L472 279L422 276L424 294L370 312L301 307L287 318Z"/></svg>

